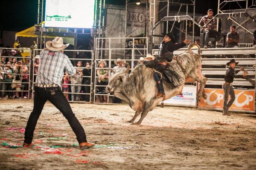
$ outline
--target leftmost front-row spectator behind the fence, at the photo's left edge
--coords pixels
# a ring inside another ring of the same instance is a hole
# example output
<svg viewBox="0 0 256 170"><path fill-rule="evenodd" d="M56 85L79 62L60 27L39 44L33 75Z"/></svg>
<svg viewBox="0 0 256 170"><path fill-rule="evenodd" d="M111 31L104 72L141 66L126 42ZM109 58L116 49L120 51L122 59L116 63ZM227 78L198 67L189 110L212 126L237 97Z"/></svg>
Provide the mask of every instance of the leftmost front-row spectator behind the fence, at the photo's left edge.
<svg viewBox="0 0 256 170"><path fill-rule="evenodd" d="M6 92L8 94L8 96L5 97L5 99L10 99L11 98L11 95L12 95L12 92L10 92L11 89L11 82L12 82L12 68L10 67L11 63L10 61L7 61L7 66L4 67L4 70L7 72L7 75L6 77L4 77L3 80L1 80L1 90L2 90L2 99L4 99L4 91L8 91ZM6 82L6 83L4 83Z"/></svg>

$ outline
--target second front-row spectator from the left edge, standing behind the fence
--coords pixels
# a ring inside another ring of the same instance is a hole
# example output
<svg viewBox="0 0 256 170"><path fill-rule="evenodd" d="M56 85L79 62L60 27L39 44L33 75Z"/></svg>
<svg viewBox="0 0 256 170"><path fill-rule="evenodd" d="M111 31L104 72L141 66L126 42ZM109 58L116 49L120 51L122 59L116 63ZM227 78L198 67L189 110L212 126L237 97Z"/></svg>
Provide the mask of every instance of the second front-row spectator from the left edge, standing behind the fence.
<svg viewBox="0 0 256 170"><path fill-rule="evenodd" d="M21 91L21 81L22 81L22 67L20 61L16 63L15 69L14 69L14 75L13 75L13 81L11 84L11 88L16 91ZM15 92L12 96L12 99L20 98L21 99L21 92Z"/></svg>

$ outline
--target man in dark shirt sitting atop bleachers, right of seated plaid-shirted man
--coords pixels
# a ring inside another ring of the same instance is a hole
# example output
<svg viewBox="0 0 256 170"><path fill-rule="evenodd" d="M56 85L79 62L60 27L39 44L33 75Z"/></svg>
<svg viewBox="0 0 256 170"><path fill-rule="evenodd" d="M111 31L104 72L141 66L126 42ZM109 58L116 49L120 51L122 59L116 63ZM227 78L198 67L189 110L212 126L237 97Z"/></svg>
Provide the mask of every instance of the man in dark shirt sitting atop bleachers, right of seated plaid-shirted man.
<svg viewBox="0 0 256 170"><path fill-rule="evenodd" d="M225 48L238 48L239 33L236 32L236 26L230 26L226 41L228 45Z"/></svg>

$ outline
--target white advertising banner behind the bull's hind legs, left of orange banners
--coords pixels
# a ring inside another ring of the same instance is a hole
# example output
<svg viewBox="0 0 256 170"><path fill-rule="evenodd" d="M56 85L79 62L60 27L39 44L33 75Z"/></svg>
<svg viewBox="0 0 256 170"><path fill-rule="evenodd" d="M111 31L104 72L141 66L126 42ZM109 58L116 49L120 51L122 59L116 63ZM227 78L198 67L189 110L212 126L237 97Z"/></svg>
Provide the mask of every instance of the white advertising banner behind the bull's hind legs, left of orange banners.
<svg viewBox="0 0 256 170"><path fill-rule="evenodd" d="M196 86L184 86L182 94L165 100L164 104L170 106L196 107Z"/></svg>

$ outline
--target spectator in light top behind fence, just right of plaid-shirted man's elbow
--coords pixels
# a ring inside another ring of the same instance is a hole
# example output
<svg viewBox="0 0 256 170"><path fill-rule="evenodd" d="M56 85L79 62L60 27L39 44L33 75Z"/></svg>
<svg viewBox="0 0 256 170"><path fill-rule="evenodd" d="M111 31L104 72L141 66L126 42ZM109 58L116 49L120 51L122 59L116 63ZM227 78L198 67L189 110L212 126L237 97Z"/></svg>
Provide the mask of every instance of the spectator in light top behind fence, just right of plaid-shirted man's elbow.
<svg viewBox="0 0 256 170"><path fill-rule="evenodd" d="M82 67L82 61L77 61L76 63L77 67ZM82 79L83 79L83 69L76 69L76 75L72 76L70 81L71 84L71 92L72 93L80 93L81 91L81 84L82 84ZM77 94L72 94L71 95L71 101L79 101L79 96Z"/></svg>

